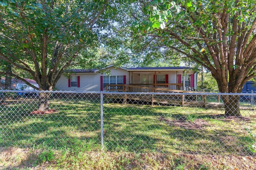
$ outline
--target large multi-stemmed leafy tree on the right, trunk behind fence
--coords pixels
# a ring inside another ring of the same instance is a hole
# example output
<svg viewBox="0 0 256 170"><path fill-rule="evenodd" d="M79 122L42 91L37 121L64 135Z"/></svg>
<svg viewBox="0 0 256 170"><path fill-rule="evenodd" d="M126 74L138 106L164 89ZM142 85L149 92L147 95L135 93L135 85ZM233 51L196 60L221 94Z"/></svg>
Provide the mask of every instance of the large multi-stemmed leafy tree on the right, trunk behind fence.
<svg viewBox="0 0 256 170"><path fill-rule="evenodd" d="M159 41L210 70L222 93L242 91L255 76L254 0L136 2L135 33ZM137 13L139 14L139 13ZM223 96L225 116L240 116L239 96Z"/></svg>

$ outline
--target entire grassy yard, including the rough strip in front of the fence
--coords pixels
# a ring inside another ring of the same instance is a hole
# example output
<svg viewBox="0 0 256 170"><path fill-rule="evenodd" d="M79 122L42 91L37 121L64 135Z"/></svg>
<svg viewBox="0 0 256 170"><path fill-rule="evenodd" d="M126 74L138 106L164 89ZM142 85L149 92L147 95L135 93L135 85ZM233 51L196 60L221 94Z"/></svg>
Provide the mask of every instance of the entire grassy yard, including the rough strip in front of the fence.
<svg viewBox="0 0 256 170"><path fill-rule="evenodd" d="M241 109L243 117L224 118L223 109L104 104L103 152L98 99L53 99L50 108L57 112L46 115L31 114L36 107L36 100L31 99L0 105L0 168L40 165L88 169L96 164L105 169L141 169L144 164L153 169L162 165L172 169L256 166L253 108ZM13 149L27 152L30 157L6 158L4 155ZM221 159L226 164L218 163Z"/></svg>

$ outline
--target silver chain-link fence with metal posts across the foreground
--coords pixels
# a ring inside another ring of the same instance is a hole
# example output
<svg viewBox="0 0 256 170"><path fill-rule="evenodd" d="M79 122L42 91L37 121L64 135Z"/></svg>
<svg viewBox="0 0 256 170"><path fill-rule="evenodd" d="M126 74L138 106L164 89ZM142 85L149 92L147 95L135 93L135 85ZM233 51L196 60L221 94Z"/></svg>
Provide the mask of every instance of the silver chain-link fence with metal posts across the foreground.
<svg viewBox="0 0 256 170"><path fill-rule="evenodd" d="M0 91L0 147L256 155L255 93L44 93Z"/></svg>

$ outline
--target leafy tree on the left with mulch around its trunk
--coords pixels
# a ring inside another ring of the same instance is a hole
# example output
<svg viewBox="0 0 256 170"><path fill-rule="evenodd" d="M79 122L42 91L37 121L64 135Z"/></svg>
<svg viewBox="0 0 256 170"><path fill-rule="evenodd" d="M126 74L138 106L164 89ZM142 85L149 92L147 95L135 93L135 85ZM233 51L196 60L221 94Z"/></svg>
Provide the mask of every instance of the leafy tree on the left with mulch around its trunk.
<svg viewBox="0 0 256 170"><path fill-rule="evenodd" d="M92 53L106 18L114 11L108 0L2 0L0 2L0 59L18 78L37 90L52 90L68 66L90 68ZM18 72L31 75L39 88ZM39 110L48 109L49 94L40 93Z"/></svg>

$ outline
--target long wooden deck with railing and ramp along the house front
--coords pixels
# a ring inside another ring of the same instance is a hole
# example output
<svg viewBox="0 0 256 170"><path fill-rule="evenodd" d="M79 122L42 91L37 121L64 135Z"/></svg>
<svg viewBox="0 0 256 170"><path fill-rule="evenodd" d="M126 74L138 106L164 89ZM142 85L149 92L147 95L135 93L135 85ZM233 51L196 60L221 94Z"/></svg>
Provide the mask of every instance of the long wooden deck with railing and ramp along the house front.
<svg viewBox="0 0 256 170"><path fill-rule="evenodd" d="M193 91L175 90L168 88L152 88L145 86L134 86L134 85L107 85L108 92L157 92L157 93L188 93L188 95L172 94L172 95L152 95L152 94L106 94L107 100L122 100L124 104L131 101L147 102L152 106L154 104L167 104L172 106L194 106L194 107L224 107L220 103L220 97L218 96L218 102L206 102L206 95L189 95L189 93L195 93ZM112 89L111 89L112 88ZM204 93L204 92L196 92Z"/></svg>

